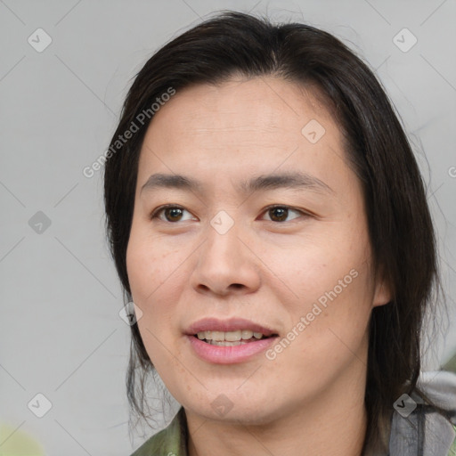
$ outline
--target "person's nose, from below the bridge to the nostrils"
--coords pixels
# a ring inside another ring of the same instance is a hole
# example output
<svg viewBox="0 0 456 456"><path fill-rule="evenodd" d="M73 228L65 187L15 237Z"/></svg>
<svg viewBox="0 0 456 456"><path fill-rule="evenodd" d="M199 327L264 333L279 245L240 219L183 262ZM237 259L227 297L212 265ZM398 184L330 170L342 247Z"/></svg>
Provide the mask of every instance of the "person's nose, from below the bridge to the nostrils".
<svg viewBox="0 0 456 456"><path fill-rule="evenodd" d="M206 241L198 249L191 286L202 294L219 296L252 293L259 288L259 260L241 240L236 224L224 234L208 225Z"/></svg>

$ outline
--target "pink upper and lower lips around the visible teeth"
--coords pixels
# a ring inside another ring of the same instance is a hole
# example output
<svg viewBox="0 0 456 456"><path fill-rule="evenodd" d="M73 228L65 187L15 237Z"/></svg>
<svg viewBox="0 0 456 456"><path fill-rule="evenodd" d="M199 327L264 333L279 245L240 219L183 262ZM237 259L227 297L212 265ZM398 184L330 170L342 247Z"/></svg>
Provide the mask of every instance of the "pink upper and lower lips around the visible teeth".
<svg viewBox="0 0 456 456"><path fill-rule="evenodd" d="M235 330L251 330L253 332L261 332L268 338L262 338L255 340L254 342L248 342L239 346L213 346L208 342L203 342L199 338L195 337L200 331L235 331ZM265 328L255 322L250 322L242 318L232 318L229 320L218 320L216 318L205 318L194 322L191 326L185 330L185 334L192 350L207 362L213 362L216 364L232 364L235 362L244 362L248 358L264 352L269 346L271 346L276 337L273 334L278 334L278 331Z"/></svg>

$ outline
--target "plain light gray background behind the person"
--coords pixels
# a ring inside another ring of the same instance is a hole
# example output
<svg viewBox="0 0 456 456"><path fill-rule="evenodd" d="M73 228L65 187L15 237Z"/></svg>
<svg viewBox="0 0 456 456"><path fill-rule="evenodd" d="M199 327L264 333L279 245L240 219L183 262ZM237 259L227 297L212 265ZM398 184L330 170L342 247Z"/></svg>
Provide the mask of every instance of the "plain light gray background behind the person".
<svg viewBox="0 0 456 456"><path fill-rule="evenodd" d="M50 455L125 456L147 437L128 436L129 327L104 239L102 173L83 169L106 150L151 53L220 9L324 28L375 69L438 229L452 323L428 367L456 349L456 1L0 0L0 453L22 432ZM53 40L41 53L28 43L37 28ZM408 52L394 42L403 28L418 39ZM38 393L53 404L43 418L28 409Z"/></svg>

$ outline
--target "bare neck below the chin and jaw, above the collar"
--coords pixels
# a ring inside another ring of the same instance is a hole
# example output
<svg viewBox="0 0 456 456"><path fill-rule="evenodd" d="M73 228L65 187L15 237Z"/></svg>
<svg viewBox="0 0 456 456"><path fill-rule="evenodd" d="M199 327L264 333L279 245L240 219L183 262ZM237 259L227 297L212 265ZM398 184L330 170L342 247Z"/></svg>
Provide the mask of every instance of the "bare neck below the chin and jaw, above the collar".
<svg viewBox="0 0 456 456"><path fill-rule="evenodd" d="M358 381L352 366L346 379L342 374L337 385L319 397L299 407L294 403L280 418L262 424L206 419L185 409L189 456L213 456L215 448L217 456L360 456L367 426L363 367L354 370Z"/></svg>

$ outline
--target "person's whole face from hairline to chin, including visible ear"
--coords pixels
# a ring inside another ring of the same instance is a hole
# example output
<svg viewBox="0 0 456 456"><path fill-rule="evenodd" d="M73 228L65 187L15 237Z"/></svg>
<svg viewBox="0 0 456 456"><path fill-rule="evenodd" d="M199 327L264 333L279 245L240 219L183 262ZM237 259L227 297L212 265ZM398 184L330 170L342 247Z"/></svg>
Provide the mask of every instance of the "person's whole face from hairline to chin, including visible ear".
<svg viewBox="0 0 456 456"><path fill-rule="evenodd" d="M153 118L126 264L187 411L265 423L363 387L388 296L347 163L322 102L273 77L178 91Z"/></svg>

